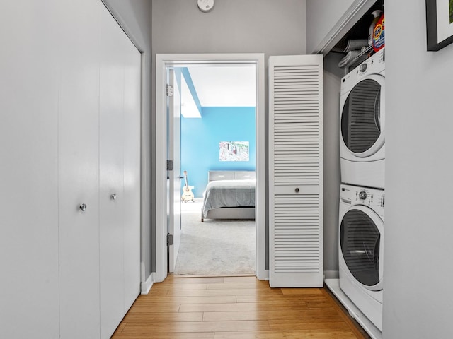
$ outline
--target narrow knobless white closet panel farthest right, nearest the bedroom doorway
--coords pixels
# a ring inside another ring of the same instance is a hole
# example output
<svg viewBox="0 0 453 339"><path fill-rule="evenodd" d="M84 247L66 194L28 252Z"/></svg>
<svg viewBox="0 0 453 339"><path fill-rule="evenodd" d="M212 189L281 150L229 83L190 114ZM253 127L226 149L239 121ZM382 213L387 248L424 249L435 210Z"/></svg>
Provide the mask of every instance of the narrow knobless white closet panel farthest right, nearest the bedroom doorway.
<svg viewBox="0 0 453 339"><path fill-rule="evenodd" d="M127 37L125 36L125 39ZM127 41L124 100L125 312L140 293L140 98L141 57Z"/></svg>

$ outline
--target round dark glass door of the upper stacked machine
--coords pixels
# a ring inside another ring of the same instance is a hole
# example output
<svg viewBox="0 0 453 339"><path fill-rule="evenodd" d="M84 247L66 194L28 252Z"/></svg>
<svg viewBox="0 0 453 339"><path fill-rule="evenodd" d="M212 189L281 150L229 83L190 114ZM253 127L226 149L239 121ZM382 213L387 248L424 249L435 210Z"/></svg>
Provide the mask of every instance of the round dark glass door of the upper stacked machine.
<svg viewBox="0 0 453 339"><path fill-rule="evenodd" d="M363 153L381 134L381 85L373 79L357 83L341 114L341 135L353 153Z"/></svg>

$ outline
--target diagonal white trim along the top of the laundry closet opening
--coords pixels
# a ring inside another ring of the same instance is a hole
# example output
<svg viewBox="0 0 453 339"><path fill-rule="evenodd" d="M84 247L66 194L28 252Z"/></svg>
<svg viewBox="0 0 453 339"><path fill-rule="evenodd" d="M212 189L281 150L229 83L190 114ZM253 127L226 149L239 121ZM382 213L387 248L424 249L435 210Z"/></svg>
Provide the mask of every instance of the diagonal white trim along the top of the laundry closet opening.
<svg viewBox="0 0 453 339"><path fill-rule="evenodd" d="M376 0L355 0L311 54L326 55L330 52L333 46L367 13L374 2Z"/></svg>

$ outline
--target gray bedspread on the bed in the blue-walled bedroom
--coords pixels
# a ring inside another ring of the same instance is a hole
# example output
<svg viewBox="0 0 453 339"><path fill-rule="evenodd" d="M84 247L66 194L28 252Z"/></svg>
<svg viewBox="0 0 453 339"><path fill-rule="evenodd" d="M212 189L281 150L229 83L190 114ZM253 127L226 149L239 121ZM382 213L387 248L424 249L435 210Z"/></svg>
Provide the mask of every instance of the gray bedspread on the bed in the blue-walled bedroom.
<svg viewBox="0 0 453 339"><path fill-rule="evenodd" d="M255 207L255 186L253 180L217 180L206 186L203 194L203 216L214 208Z"/></svg>

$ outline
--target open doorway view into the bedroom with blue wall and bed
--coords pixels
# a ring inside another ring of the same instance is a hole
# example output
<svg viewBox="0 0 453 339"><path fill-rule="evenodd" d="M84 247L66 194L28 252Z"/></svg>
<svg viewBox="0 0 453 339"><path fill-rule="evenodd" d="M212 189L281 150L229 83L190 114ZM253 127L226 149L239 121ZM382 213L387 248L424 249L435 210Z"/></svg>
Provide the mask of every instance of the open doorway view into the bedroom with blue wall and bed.
<svg viewBox="0 0 453 339"><path fill-rule="evenodd" d="M169 272L255 275L256 65L190 65L173 73L173 102L180 97L174 175L183 187L181 206L173 208L180 210L180 246Z"/></svg>

